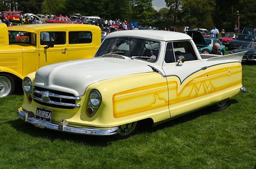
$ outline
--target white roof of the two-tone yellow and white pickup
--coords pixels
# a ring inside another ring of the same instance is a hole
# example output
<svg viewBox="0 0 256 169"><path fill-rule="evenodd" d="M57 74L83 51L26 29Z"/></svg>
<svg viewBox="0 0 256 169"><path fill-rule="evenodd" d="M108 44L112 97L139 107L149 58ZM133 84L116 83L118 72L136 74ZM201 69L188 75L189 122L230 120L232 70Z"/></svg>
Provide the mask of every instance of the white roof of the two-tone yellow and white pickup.
<svg viewBox="0 0 256 169"><path fill-rule="evenodd" d="M156 31L156 30L127 30L127 31L117 31L109 33L107 38L113 37L138 37L138 38L148 38L152 40L160 41L170 41L170 40L189 40L192 39L185 33L172 32L172 31Z"/></svg>

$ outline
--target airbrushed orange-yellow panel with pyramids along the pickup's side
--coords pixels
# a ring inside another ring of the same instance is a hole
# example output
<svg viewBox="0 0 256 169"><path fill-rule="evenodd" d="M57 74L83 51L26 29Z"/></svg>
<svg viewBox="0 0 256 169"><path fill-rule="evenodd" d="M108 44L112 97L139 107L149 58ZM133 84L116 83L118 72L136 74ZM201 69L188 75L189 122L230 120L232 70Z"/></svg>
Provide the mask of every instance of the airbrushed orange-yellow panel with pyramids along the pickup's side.
<svg viewBox="0 0 256 169"><path fill-rule="evenodd" d="M113 95L113 115L120 118L169 106L189 99L204 96L242 83L242 67L229 63L230 67L220 68L202 74L198 71L180 85L177 76L167 77L166 83L141 86ZM214 66L213 66L214 67ZM218 66L216 65L216 68ZM213 68L212 68L213 69ZM191 79L189 81L189 79ZM179 85L178 85L179 84ZM181 87L181 89L179 89ZM168 92L169 99L164 98ZM164 95L165 94L165 95ZM127 105L131 105L127 109Z"/></svg>

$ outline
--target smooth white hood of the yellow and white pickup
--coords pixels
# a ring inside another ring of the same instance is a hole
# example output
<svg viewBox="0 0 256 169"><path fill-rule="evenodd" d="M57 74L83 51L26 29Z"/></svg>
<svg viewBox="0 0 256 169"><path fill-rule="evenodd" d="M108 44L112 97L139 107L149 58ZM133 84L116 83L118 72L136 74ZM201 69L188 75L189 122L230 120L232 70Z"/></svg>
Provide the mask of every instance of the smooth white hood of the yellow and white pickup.
<svg viewBox="0 0 256 169"><path fill-rule="evenodd" d="M100 80L152 71L146 63L131 59L83 59L40 68L34 86L83 96L88 85Z"/></svg>

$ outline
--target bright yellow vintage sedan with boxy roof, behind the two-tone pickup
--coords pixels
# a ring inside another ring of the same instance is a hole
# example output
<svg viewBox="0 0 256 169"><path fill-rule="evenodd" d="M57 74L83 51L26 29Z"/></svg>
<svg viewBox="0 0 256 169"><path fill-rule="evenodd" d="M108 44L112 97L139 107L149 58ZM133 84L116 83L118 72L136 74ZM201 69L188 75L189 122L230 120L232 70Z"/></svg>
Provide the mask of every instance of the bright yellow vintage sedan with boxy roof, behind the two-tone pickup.
<svg viewBox="0 0 256 169"><path fill-rule="evenodd" d="M0 97L45 65L92 58L101 43L101 30L93 25L0 24L0 30Z"/></svg>

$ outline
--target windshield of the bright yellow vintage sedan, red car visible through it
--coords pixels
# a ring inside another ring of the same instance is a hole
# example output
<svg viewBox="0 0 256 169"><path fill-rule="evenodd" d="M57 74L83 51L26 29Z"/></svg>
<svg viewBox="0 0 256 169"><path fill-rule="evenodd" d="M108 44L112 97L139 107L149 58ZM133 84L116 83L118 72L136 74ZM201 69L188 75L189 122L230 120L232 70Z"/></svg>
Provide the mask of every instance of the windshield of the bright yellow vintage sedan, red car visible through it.
<svg viewBox="0 0 256 169"><path fill-rule="evenodd" d="M36 46L36 33L9 31L9 43L26 43Z"/></svg>

